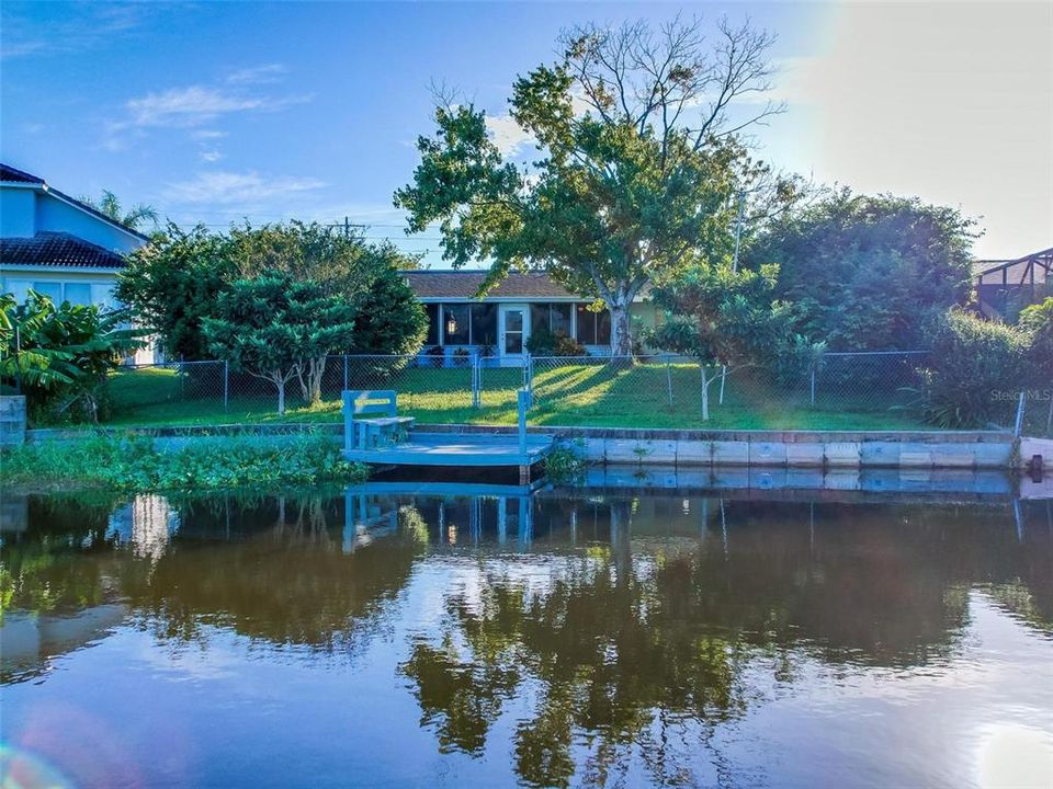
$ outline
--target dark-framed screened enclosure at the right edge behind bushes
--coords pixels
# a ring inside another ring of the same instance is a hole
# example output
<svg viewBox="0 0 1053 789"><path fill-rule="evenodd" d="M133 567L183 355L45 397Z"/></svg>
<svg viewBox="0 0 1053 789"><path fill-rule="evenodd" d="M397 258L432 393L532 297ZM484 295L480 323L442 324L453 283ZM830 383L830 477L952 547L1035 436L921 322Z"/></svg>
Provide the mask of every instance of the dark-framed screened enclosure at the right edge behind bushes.
<svg viewBox="0 0 1053 789"><path fill-rule="evenodd" d="M973 284L981 312L1012 322L1024 307L1053 296L1053 248L1016 260L976 261Z"/></svg>

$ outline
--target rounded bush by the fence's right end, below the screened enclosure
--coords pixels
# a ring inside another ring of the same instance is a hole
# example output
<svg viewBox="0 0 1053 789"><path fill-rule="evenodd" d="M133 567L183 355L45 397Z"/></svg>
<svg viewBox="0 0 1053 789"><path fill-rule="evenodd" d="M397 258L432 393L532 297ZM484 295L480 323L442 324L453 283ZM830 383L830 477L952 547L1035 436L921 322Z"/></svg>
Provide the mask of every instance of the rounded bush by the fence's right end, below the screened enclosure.
<svg viewBox="0 0 1053 789"><path fill-rule="evenodd" d="M954 309L933 322L930 336L920 391L925 418L941 427L1009 424L1031 374L1030 335Z"/></svg>

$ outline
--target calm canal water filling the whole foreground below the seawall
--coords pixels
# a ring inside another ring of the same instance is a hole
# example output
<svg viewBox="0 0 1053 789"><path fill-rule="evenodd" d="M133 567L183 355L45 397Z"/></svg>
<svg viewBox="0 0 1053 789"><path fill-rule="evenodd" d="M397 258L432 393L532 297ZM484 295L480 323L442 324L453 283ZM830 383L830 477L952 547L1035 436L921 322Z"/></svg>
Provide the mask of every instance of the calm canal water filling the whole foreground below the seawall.
<svg viewBox="0 0 1053 789"><path fill-rule="evenodd" d="M1048 502L505 493L7 496L5 777L1053 785Z"/></svg>

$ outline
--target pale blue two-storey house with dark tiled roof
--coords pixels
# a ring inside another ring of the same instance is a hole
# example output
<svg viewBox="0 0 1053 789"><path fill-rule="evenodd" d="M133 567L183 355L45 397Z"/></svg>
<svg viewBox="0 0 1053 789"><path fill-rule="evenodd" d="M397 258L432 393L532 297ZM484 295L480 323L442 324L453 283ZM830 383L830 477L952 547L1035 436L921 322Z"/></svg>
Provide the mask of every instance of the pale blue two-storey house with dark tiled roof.
<svg viewBox="0 0 1053 789"><path fill-rule="evenodd" d="M0 291L113 307L124 255L147 240L44 179L0 164ZM151 356L143 351L136 361Z"/></svg>

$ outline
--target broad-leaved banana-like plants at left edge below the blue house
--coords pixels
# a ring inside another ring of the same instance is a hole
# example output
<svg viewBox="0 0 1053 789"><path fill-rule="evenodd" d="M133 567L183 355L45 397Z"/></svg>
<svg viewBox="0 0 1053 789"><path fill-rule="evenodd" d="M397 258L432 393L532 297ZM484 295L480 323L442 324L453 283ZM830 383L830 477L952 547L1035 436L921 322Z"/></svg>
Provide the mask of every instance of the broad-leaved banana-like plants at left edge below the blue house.
<svg viewBox="0 0 1053 789"><path fill-rule="evenodd" d="M121 312L59 306L30 291L24 304L0 295L0 376L21 380L36 419L87 416L97 422L109 373L144 344L144 332L123 328Z"/></svg>

